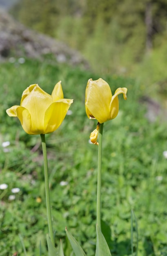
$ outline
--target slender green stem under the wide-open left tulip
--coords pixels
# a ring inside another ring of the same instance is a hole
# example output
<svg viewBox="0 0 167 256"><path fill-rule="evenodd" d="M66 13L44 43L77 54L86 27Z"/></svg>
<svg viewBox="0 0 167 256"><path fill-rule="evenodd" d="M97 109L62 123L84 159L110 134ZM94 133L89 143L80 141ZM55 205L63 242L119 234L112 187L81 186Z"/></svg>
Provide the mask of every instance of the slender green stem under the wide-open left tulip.
<svg viewBox="0 0 167 256"><path fill-rule="evenodd" d="M49 227L49 236L52 244L54 245L54 236L53 236L53 227L51 220L51 204L50 204L50 193L49 193L49 176L48 176L48 163L47 163L47 147L45 141L45 134L41 134L42 141L42 151L43 151L43 159L44 159L44 173L45 173L45 195L46 195L46 205L47 205L47 220Z"/></svg>

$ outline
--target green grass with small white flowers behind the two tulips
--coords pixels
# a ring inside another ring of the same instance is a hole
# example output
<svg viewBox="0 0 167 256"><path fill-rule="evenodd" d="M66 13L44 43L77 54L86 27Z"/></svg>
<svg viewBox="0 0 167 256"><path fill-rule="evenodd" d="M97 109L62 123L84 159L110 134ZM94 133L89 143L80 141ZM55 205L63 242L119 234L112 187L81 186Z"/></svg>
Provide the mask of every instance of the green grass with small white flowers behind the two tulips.
<svg viewBox="0 0 167 256"><path fill-rule="evenodd" d="M96 181L98 147L89 144L96 121L85 113L85 88L89 78L102 77L111 86L128 88L128 100L120 99L116 119L105 123L102 154L102 230L112 256L131 255L131 209L138 223L138 256L167 255L167 132L164 123L149 123L139 98L144 94L134 80L93 74L80 67L50 64L27 59L24 64L0 65L0 256L18 252L24 256L47 255L47 216L40 136L27 135L16 118L5 110L19 105L21 94L38 83L51 93L61 80L65 98L74 99L72 115L46 135L53 228L57 243L62 238L65 255L71 247L65 227L73 234L87 256L94 256L96 245ZM1 146L10 141L9 152ZM161 178L158 178L161 177ZM60 186L67 181L66 186ZM16 200L11 189L19 187ZM4 194L2 194L4 193ZM38 198L41 202L37 202ZM134 255L136 227L134 223Z"/></svg>

